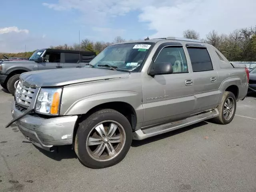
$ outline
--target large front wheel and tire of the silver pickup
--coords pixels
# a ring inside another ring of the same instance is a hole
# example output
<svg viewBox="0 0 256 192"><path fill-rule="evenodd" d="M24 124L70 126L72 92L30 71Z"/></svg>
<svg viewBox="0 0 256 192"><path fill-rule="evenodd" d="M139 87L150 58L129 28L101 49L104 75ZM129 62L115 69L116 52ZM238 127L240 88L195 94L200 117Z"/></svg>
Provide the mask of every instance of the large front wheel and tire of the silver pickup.
<svg viewBox="0 0 256 192"><path fill-rule="evenodd" d="M90 168L106 168L124 159L132 144L132 127L116 110L99 110L83 120L76 132L74 149Z"/></svg>

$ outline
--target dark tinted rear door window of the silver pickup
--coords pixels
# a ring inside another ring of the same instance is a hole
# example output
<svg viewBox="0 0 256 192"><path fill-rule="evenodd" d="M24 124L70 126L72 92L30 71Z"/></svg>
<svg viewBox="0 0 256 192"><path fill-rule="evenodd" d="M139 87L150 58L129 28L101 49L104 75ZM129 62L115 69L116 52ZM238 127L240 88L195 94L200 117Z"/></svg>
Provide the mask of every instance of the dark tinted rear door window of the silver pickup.
<svg viewBox="0 0 256 192"><path fill-rule="evenodd" d="M193 72L212 70L212 61L206 48L188 48Z"/></svg>

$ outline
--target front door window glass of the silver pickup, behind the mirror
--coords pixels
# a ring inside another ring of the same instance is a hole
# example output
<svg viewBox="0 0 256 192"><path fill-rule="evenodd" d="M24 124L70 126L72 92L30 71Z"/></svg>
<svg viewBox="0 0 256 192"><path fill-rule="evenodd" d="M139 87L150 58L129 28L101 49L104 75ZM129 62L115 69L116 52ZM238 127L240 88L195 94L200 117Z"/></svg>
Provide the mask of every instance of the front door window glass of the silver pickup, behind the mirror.
<svg viewBox="0 0 256 192"><path fill-rule="evenodd" d="M172 64L173 73L186 73L188 66L182 47L165 47L161 50L156 58L158 62L169 62Z"/></svg>

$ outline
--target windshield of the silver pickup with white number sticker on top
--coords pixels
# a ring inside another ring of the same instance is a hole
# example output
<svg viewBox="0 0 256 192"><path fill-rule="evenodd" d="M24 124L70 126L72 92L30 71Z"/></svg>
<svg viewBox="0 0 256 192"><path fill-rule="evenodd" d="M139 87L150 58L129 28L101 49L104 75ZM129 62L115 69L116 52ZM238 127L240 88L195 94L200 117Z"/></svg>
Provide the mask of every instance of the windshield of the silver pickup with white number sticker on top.
<svg viewBox="0 0 256 192"><path fill-rule="evenodd" d="M146 54L153 47L152 43L127 43L108 46L90 64L94 67L98 65L110 65L117 70L134 71L142 65Z"/></svg>

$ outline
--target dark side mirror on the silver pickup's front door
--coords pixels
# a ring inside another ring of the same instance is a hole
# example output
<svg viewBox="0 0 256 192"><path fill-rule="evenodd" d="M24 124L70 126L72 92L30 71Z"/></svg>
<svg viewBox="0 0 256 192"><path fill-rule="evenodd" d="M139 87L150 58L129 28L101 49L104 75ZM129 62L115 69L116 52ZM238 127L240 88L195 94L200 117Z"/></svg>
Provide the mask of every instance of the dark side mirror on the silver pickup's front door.
<svg viewBox="0 0 256 192"><path fill-rule="evenodd" d="M148 72L149 75L172 74L172 64L168 62L154 62Z"/></svg>

